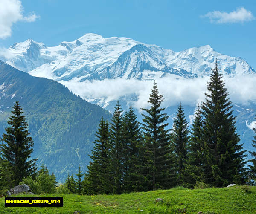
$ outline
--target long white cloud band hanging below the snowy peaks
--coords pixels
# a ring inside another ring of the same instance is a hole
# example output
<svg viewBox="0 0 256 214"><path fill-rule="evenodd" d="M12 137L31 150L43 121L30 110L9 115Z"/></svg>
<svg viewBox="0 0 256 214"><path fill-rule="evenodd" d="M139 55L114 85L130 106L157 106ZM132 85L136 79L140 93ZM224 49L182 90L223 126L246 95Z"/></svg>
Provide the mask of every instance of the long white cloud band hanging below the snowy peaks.
<svg viewBox="0 0 256 214"><path fill-rule="evenodd" d="M256 100L256 93L254 93L255 75L236 76L236 78L224 76L224 79L229 98L233 103L246 105L249 100ZM209 76L185 79L177 78L176 75L169 75L156 79L159 93L164 97L163 106L165 107L177 106L179 102L183 105L196 106L205 100L204 93L207 92L207 81L209 81ZM84 82L72 80L61 81L61 83L87 101L104 99L105 103L108 103L123 96L129 97L135 94L137 101L131 101L131 104L139 110L142 107L148 107L147 101L154 81L119 78Z"/></svg>

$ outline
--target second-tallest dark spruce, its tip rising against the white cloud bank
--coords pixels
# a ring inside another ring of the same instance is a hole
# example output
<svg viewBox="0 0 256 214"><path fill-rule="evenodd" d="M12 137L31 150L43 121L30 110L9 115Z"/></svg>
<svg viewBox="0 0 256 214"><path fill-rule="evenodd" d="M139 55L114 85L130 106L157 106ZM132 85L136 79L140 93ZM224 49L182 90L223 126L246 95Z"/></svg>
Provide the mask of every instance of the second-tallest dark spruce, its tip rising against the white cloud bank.
<svg viewBox="0 0 256 214"><path fill-rule="evenodd" d="M163 95L158 94L157 84L154 82L153 89L148 100L150 109L142 108L148 115L143 116L143 167L145 175L145 185L148 189L170 188L175 183L175 173L173 171L174 159L170 147L169 129L166 129L168 116L161 108Z"/></svg>

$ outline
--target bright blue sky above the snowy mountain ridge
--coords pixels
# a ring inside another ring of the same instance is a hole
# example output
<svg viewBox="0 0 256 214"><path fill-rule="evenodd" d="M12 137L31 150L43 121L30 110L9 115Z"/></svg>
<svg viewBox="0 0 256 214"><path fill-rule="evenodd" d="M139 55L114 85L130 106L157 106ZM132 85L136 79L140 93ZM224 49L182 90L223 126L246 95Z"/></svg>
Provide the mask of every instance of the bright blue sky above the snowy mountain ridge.
<svg viewBox="0 0 256 214"><path fill-rule="evenodd" d="M256 69L254 0L0 0L0 6L8 1L13 7L20 4L20 16L6 14L5 22L2 18L2 26L9 24L11 32L0 38L1 48L28 38L55 46L96 33L175 52L209 44L218 52L244 58ZM0 36L1 30L0 23Z"/></svg>

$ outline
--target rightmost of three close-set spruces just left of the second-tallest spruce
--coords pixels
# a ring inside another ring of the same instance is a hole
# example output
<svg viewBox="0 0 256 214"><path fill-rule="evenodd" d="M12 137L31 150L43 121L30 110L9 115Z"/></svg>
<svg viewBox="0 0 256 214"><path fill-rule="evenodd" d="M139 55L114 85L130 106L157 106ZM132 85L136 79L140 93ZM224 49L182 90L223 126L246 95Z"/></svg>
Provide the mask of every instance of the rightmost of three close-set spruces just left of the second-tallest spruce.
<svg viewBox="0 0 256 214"><path fill-rule="evenodd" d="M140 159L142 136L137 117L131 105L129 111L123 117L122 136L124 142L123 188L125 192L138 191L140 182L138 180L137 163Z"/></svg>

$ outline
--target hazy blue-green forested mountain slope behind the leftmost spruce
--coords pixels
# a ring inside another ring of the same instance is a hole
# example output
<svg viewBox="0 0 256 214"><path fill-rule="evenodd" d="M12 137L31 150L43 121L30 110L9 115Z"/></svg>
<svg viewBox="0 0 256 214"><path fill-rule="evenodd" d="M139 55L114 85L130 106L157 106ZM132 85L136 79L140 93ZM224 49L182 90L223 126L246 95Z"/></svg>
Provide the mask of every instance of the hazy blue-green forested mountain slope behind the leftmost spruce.
<svg viewBox="0 0 256 214"><path fill-rule="evenodd" d="M62 84L33 77L0 61L0 136L15 101L23 108L34 140L32 158L46 165L58 182L67 174L85 172L101 117L111 114L71 93Z"/></svg>

